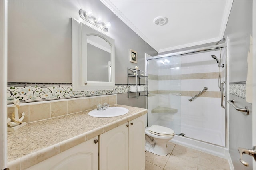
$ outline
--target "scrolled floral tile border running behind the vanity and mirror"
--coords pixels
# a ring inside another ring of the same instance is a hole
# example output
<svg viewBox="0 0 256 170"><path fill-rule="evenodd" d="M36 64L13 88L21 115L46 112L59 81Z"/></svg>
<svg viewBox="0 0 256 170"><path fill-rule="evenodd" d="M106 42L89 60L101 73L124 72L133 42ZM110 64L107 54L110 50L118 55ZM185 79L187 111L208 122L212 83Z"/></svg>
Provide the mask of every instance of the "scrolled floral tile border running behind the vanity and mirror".
<svg viewBox="0 0 256 170"><path fill-rule="evenodd" d="M10 82L7 85L7 103L12 104L13 99L19 99L20 103L24 103L76 97L112 95L127 92L127 84L116 84L113 90L72 91L72 83Z"/></svg>

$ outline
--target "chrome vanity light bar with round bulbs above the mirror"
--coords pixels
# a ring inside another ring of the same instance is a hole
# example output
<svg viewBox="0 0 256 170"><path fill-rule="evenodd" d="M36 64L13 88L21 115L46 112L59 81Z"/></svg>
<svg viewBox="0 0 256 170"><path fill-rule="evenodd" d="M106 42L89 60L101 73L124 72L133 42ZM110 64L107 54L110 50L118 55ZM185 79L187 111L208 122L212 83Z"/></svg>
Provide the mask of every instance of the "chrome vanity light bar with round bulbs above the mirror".
<svg viewBox="0 0 256 170"><path fill-rule="evenodd" d="M92 14L91 9L87 10L79 10L79 15L83 20L88 21L89 23L93 24L94 26L100 28L101 30L108 32L108 28L110 28L111 24L110 22L102 22L102 18L100 16L95 17Z"/></svg>

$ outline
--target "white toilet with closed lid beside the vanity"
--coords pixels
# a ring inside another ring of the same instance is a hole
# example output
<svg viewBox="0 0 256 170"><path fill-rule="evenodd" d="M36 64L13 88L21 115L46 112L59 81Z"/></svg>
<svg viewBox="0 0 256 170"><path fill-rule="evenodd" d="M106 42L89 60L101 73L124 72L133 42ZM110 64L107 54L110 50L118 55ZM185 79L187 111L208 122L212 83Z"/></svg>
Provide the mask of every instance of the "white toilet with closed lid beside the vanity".
<svg viewBox="0 0 256 170"><path fill-rule="evenodd" d="M160 156L168 154L167 142L174 137L170 128L152 125L145 128L145 150Z"/></svg>

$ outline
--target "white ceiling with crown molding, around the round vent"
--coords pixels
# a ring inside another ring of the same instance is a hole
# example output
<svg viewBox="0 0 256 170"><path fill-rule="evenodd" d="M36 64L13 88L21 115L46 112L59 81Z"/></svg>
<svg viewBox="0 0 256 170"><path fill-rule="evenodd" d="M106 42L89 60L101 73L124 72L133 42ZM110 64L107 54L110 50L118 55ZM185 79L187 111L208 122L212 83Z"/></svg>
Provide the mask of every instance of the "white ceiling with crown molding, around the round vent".
<svg viewBox="0 0 256 170"><path fill-rule="evenodd" d="M232 0L102 0L159 53L223 38ZM154 24L164 16L168 22Z"/></svg>

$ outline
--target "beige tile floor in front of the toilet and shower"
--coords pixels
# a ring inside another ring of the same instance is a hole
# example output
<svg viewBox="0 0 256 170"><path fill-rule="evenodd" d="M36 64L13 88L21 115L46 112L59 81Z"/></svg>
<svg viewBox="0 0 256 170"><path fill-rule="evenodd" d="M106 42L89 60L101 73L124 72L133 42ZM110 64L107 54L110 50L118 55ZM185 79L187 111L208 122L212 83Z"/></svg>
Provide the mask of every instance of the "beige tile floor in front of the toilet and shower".
<svg viewBox="0 0 256 170"><path fill-rule="evenodd" d="M227 159L171 142L167 146L167 156L146 151L146 170L230 170Z"/></svg>

